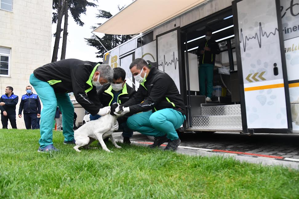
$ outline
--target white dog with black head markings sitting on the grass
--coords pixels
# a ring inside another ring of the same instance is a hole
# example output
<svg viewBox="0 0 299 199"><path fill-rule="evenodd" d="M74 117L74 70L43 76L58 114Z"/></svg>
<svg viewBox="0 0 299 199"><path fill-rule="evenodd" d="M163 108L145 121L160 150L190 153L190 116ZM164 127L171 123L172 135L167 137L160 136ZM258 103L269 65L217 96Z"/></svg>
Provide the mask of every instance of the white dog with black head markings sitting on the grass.
<svg viewBox="0 0 299 199"><path fill-rule="evenodd" d="M98 140L104 150L107 152L113 152L107 148L105 142L103 141L103 139L107 137L110 138L115 147L122 148L121 146L117 145L112 137L114 125L117 122L117 116L114 114L114 112L121 113L122 111L123 106L119 103L114 103L110 108L109 114L104 115L99 119L87 122L74 131L74 138L76 140L76 146L74 146L74 150L80 152L81 150L79 150L79 147L83 146L87 149L92 142Z"/></svg>

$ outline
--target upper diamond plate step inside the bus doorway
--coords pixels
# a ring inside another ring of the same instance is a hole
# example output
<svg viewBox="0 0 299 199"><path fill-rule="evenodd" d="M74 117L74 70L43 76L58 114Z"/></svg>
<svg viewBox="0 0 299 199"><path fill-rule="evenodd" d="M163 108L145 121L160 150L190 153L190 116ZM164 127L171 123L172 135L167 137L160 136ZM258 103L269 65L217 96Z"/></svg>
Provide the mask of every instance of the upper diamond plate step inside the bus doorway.
<svg viewBox="0 0 299 199"><path fill-rule="evenodd" d="M201 107L202 116L212 116L212 115L238 115L241 117L241 105L219 105L219 106L202 106Z"/></svg>

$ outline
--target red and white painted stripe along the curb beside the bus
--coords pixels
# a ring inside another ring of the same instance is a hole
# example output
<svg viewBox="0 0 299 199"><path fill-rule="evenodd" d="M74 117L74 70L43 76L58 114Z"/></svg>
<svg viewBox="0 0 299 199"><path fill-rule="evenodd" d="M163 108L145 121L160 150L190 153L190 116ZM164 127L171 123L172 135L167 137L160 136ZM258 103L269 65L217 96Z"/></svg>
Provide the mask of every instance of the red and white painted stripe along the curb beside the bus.
<svg viewBox="0 0 299 199"><path fill-rule="evenodd" d="M153 144L153 142L136 142L131 141L139 144ZM166 144L161 144L161 146L166 146ZM274 156L274 155L263 155L263 154L253 154L253 153L246 153L246 152L239 152L239 151L228 151L228 150L217 150L217 149L205 149L205 148L197 148L197 147L189 147L189 146L178 146L181 149L193 149L193 150L204 150L204 151L211 151L211 152L221 152L221 153L233 153L233 154L242 154L242 155L252 155L258 157L266 157L266 158L274 158L280 160L289 160L299 162L299 159L296 158L284 158L282 156Z"/></svg>

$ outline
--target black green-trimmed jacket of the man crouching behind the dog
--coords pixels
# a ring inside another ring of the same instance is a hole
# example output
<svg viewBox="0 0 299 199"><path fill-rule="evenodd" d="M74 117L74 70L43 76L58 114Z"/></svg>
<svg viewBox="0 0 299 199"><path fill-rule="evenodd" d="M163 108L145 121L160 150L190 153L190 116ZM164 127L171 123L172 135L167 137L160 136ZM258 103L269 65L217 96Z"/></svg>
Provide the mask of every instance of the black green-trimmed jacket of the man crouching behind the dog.
<svg viewBox="0 0 299 199"><path fill-rule="evenodd" d="M125 84L124 88L122 89L122 93L118 95L118 103L124 104L126 103L136 91L130 87L128 84ZM102 86L102 88L98 91L98 98L104 107L111 106L112 99L114 95L112 93L112 86L107 83ZM129 116L129 115L127 115ZM127 117L120 117L117 119L118 123L126 122Z"/></svg>

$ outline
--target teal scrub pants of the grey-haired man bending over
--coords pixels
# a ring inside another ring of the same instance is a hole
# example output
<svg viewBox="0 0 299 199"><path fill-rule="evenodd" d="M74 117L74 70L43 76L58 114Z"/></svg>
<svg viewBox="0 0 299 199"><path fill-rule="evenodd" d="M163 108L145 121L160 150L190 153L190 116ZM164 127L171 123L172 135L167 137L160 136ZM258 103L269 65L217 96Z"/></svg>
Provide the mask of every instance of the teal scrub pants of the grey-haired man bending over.
<svg viewBox="0 0 299 199"><path fill-rule="evenodd" d="M64 140L67 142L73 141L74 105L70 101L70 96L67 93L55 93L48 82L37 79L34 74L30 75L30 84L34 87L43 105L40 121L40 147L44 148L53 144L53 121L57 105L63 116L62 126Z"/></svg>

